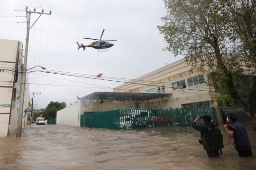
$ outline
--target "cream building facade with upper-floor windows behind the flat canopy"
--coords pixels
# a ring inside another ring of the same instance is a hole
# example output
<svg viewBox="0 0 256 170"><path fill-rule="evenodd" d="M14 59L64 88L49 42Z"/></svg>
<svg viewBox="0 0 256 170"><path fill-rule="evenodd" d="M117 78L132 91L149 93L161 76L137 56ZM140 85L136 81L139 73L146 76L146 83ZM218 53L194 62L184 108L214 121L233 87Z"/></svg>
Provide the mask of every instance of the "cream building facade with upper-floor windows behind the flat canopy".
<svg viewBox="0 0 256 170"><path fill-rule="evenodd" d="M144 76L140 76L126 84L114 88L114 92L132 93L172 93L164 99L154 99L141 102L140 108L203 108L217 107L211 99L215 93L214 87L205 84L207 76L203 70L207 67L197 67L190 72L192 64L180 59L163 68L159 68ZM148 105L148 103L151 103Z"/></svg>

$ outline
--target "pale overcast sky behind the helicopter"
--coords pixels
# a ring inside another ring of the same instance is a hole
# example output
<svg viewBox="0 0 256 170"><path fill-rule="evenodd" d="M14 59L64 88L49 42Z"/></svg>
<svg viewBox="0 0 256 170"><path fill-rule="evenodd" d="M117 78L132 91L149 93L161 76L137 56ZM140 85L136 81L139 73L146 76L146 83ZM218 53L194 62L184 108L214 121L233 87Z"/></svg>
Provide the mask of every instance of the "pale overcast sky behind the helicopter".
<svg viewBox="0 0 256 170"><path fill-rule="evenodd" d="M25 9L28 6L31 11L37 7L37 12L41 12L38 2L43 4L45 12L52 10L52 15L41 16L30 30L27 68L40 65L46 70L95 76L103 73L102 78L135 79L164 67L166 61L170 64L182 58L175 58L171 52L162 50L166 43L156 26L163 25L160 18L166 14L163 0L47 0L49 6L46 0L0 0L0 38L19 40L25 49L26 23L2 22L26 21L26 17L1 17L25 16L25 12L2 9ZM39 14L31 14L31 23L37 17ZM76 42L84 45L93 42L82 37L99 39L103 29L102 39L118 40L111 42L114 46L109 51L77 50ZM42 93L34 98L37 109L46 108L51 101L69 105L77 101L76 95L83 97L96 91L113 91L93 85L114 88L122 84L40 72L29 74L29 83L30 98L33 92Z"/></svg>

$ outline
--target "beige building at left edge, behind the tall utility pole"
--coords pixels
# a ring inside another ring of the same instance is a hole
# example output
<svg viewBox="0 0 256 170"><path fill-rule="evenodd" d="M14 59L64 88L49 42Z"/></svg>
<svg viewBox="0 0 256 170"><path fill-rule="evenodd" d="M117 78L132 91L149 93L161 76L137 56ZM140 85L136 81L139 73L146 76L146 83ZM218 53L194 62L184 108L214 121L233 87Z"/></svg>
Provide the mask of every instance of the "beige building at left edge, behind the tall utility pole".
<svg viewBox="0 0 256 170"><path fill-rule="evenodd" d="M17 131L21 81L18 70L22 64L22 42L0 39L0 136L9 136ZM26 85L24 109L28 107L28 100ZM22 125L24 120L27 123L27 116L22 120Z"/></svg>

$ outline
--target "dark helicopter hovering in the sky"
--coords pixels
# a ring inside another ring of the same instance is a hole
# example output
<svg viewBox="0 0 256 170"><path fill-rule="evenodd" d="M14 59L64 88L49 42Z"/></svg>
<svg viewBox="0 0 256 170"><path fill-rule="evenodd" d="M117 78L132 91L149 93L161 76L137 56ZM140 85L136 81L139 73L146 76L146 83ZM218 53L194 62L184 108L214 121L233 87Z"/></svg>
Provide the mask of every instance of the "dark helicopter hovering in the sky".
<svg viewBox="0 0 256 170"><path fill-rule="evenodd" d="M104 31L105 31L105 29L103 29L102 34L101 34L101 37L102 37ZM84 39L99 40L99 39L93 39L93 38L84 38ZM81 45L79 45L79 43L76 42L77 45L78 45L78 49L77 49L77 50L79 50L80 48L83 48L83 51L84 51L84 50L85 50L85 47L92 47L92 48L94 48L94 49L97 49L98 52L103 52L103 51L99 51L99 50L108 51L110 47L114 46L114 44L112 44L112 43L110 43L110 42L108 42L108 41L117 41L117 40L101 40L101 38L100 38L99 41L92 42L92 43L89 44L89 45L83 45L82 43L81 43Z"/></svg>

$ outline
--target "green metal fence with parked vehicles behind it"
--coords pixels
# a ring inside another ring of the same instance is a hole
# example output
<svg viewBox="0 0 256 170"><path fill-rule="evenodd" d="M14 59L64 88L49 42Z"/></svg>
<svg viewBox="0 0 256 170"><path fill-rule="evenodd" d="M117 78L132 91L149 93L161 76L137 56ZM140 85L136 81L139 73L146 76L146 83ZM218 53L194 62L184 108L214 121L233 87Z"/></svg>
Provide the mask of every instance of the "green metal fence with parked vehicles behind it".
<svg viewBox="0 0 256 170"><path fill-rule="evenodd" d="M214 108L148 108L84 112L84 127L136 129L191 126L197 116L209 115L217 121ZM202 124L202 119L198 121ZM82 124L81 124L82 125Z"/></svg>

